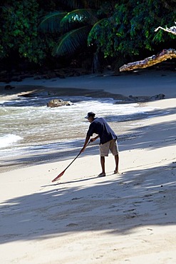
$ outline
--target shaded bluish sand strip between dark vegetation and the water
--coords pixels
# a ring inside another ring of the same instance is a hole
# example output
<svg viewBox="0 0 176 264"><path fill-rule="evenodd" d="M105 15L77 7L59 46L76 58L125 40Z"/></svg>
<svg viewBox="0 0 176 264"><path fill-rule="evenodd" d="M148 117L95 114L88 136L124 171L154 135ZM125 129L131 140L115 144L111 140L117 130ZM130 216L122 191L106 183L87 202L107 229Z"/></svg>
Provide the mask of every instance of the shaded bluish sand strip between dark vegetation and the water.
<svg viewBox="0 0 176 264"><path fill-rule="evenodd" d="M105 93L119 94L120 96L155 96L156 94L163 93L165 98L176 97L175 91L176 73L172 71L135 71L125 75L114 76L110 73L102 75L90 74L78 77L68 78L51 78L51 79L38 79L25 78L21 82L12 81L10 83L0 83L0 94L9 95L14 93L22 93L22 86L25 87L25 92L32 90L48 91L48 88L53 92L58 92L61 89L61 95L64 90L81 89L82 93L86 89L88 91L103 91ZM4 87L14 86L10 91L4 90ZM37 89L37 90L36 90Z"/></svg>

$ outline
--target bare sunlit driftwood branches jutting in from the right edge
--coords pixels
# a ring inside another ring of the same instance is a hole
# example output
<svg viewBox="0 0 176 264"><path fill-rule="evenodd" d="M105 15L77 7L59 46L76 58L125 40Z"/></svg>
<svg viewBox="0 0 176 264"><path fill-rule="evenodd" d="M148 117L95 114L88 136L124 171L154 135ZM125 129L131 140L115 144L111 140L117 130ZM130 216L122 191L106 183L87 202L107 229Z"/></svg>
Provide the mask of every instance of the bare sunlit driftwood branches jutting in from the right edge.
<svg viewBox="0 0 176 264"><path fill-rule="evenodd" d="M176 24L176 22L175 22ZM176 35L176 26L171 26L170 28L162 28L159 26L155 31L158 29L162 29L167 31L168 33ZM142 61L135 61L129 64L124 64L119 68L119 71L132 71L135 68L147 68L153 66L155 64L160 64L162 61L166 61L167 59L176 58L176 50L175 49L163 49L159 54L150 56Z"/></svg>

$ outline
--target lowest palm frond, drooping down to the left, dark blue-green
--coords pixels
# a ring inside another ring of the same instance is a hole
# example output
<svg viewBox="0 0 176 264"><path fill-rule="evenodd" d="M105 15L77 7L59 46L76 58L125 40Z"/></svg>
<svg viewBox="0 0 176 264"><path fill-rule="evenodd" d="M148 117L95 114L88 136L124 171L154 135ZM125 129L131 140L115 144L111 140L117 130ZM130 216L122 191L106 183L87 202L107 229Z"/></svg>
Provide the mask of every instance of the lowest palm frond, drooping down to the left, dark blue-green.
<svg viewBox="0 0 176 264"><path fill-rule="evenodd" d="M88 33L90 31L90 26L83 26L79 29L74 29L68 33L61 36L56 44L55 49L53 49L53 56L63 56L66 54L73 54L81 46L87 44Z"/></svg>

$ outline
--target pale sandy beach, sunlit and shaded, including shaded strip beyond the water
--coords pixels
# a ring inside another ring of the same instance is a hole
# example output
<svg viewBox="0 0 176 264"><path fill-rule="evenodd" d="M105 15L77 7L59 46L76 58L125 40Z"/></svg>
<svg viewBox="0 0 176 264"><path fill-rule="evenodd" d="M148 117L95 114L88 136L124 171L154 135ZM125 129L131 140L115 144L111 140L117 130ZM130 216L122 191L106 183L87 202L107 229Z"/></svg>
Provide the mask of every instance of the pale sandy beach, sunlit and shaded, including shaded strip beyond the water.
<svg viewBox="0 0 176 264"><path fill-rule="evenodd" d="M24 79L16 94L28 85L165 99L147 102L160 116L146 118L140 136L120 142L119 175L110 154L107 175L98 178L100 157L86 151L56 183L72 160L0 173L1 263L175 263L176 73Z"/></svg>

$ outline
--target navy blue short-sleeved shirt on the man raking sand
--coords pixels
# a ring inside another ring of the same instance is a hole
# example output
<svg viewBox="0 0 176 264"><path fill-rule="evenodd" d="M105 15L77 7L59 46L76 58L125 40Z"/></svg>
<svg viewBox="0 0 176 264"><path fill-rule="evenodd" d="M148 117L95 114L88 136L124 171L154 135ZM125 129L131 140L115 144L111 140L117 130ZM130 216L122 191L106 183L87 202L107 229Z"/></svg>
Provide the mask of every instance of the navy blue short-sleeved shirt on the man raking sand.
<svg viewBox="0 0 176 264"><path fill-rule="evenodd" d="M112 139L117 139L114 131L104 118L96 117L88 128L87 136L93 136L93 133L98 134L100 137L100 144L104 144Z"/></svg>

